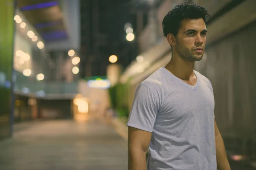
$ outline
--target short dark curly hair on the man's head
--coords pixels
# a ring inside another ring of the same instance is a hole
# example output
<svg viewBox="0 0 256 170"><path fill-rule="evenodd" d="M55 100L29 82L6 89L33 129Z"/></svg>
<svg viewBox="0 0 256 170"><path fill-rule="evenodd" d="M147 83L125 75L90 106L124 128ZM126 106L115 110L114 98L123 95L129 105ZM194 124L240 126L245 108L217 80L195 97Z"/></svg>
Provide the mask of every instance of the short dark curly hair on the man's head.
<svg viewBox="0 0 256 170"><path fill-rule="evenodd" d="M169 11L163 18L163 34L165 37L167 34L173 34L176 37L182 20L200 18L202 18L205 23L209 20L210 15L206 8L195 3L181 3L175 6L175 8Z"/></svg>

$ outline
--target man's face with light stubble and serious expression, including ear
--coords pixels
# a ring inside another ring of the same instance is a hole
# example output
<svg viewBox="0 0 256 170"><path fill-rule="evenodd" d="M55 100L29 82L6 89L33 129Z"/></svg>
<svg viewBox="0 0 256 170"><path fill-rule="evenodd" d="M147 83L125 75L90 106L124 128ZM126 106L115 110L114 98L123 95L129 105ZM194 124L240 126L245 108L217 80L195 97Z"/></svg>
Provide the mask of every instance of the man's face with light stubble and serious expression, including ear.
<svg viewBox="0 0 256 170"><path fill-rule="evenodd" d="M180 26L174 48L183 59L200 61L204 55L207 33L204 20L183 20Z"/></svg>

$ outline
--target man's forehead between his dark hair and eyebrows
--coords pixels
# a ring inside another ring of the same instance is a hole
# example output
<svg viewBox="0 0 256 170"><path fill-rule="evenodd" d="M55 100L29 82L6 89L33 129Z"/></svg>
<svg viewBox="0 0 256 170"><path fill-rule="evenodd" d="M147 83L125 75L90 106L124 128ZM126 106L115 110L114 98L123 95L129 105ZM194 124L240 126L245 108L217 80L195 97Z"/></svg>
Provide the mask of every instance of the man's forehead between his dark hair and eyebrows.
<svg viewBox="0 0 256 170"><path fill-rule="evenodd" d="M180 23L180 29L183 31L193 29L197 31L203 31L206 29L206 25L202 18L200 19L186 19L182 20Z"/></svg>

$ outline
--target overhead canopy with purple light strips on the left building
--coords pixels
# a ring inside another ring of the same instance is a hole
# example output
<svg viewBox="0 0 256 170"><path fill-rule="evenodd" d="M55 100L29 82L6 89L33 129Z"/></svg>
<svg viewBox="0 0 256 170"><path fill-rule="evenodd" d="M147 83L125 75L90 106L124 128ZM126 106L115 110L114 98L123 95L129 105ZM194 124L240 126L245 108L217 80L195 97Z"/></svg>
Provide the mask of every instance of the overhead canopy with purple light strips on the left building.
<svg viewBox="0 0 256 170"><path fill-rule="evenodd" d="M67 39L58 0L17 0L17 7L46 42Z"/></svg>

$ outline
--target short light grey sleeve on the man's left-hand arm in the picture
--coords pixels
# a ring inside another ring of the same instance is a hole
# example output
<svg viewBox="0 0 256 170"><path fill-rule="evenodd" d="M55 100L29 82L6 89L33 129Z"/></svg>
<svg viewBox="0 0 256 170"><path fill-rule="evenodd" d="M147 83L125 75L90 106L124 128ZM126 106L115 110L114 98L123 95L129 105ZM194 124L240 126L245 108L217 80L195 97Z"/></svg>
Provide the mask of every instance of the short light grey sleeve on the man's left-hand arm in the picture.
<svg viewBox="0 0 256 170"><path fill-rule="evenodd" d="M146 85L140 84L134 95L127 126L152 132L159 108L158 103L153 92Z"/></svg>

